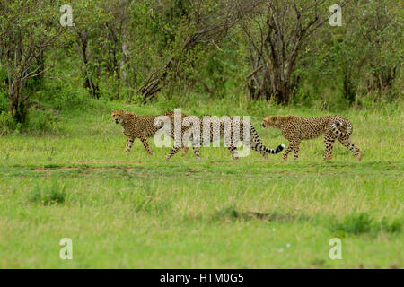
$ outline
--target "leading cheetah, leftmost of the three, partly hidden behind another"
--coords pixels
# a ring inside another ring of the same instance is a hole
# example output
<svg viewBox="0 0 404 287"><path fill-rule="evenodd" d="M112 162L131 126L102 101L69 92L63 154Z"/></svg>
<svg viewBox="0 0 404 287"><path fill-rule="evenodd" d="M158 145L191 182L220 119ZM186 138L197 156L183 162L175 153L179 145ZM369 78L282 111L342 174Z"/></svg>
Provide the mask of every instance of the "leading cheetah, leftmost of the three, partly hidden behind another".
<svg viewBox="0 0 404 287"><path fill-rule="evenodd" d="M162 126L154 126L154 119L160 116L173 117L173 115L174 112L169 111L163 115L140 116L121 109L114 109L111 113L115 123L122 126L122 132L127 136L126 152L130 152L133 142L136 138L139 138L145 147L145 151L151 155L154 155L154 152L150 149L147 138L154 136L162 128ZM188 147L183 147L182 155L187 152Z"/></svg>

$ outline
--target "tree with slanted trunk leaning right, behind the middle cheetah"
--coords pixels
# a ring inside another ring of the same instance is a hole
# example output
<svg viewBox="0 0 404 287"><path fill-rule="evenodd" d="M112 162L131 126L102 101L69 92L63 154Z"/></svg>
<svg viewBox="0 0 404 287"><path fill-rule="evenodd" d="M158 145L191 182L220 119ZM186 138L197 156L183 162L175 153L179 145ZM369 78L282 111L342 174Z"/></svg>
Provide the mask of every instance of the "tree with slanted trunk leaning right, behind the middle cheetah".
<svg viewBox="0 0 404 287"><path fill-rule="evenodd" d="M151 14L151 18L157 22L166 39L171 39L168 43L172 43L172 50L165 63L150 74L138 90L143 99L150 100L161 91L162 81L167 79L167 75L173 74L171 79L177 78L184 61L192 61L190 55L195 48L217 45L256 5L255 0L176 0L171 7L152 7L158 16ZM172 15L171 25L167 25L164 18L168 16L170 19Z"/></svg>

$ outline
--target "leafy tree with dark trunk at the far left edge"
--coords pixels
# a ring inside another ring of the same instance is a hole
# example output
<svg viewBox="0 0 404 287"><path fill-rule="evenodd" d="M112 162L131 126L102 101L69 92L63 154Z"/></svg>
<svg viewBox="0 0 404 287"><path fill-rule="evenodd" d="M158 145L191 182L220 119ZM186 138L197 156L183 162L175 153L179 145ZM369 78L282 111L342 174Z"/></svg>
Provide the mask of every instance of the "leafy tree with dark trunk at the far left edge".
<svg viewBox="0 0 404 287"><path fill-rule="evenodd" d="M24 103L31 96L24 88L29 79L48 71L44 52L63 31L57 1L0 1L0 36L7 69L8 98L14 120L22 122Z"/></svg>

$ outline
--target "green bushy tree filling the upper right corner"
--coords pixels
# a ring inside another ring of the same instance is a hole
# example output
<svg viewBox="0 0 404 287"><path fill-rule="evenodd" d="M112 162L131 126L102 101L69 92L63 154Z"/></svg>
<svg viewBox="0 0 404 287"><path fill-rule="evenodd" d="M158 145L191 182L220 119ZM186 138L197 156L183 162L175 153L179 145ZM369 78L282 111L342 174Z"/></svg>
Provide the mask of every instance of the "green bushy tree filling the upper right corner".
<svg viewBox="0 0 404 287"><path fill-rule="evenodd" d="M336 86L348 104L366 92L374 100L388 94L403 58L398 7L400 3L393 0L347 4L342 27L312 42L310 48L320 52L306 72Z"/></svg>

